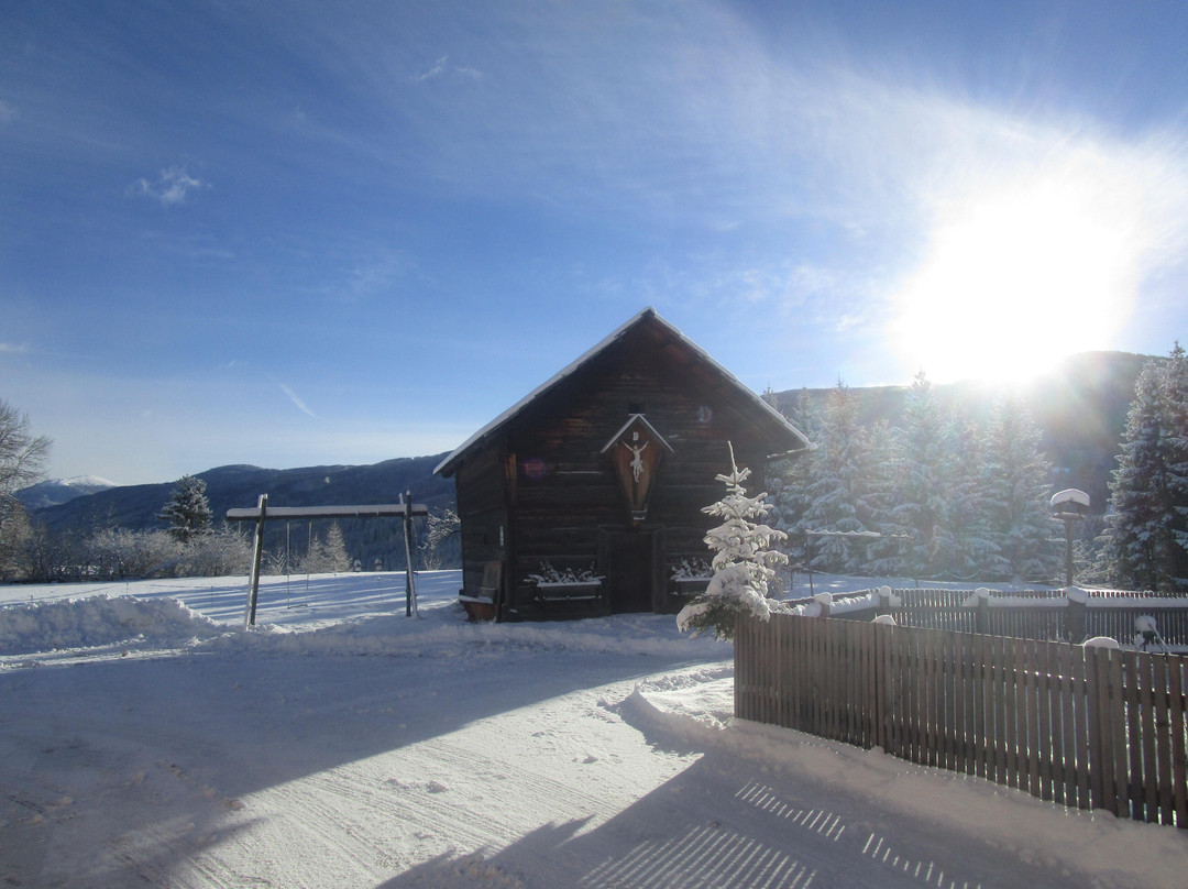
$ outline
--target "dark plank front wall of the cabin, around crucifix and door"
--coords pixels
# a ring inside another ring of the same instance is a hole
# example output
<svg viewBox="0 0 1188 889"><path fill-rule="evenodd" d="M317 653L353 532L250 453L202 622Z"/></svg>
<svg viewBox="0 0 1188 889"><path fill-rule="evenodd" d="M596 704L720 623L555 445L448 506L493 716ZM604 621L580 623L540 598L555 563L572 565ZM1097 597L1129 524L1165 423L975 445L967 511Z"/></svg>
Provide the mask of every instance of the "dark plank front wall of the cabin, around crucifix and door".
<svg viewBox="0 0 1188 889"><path fill-rule="evenodd" d="M632 412L643 412L672 447L642 525L664 528L665 580L682 557L708 555L702 538L713 522L701 507L725 493L714 477L729 469L727 440L758 479L766 449L734 404L700 385L656 352L625 342L517 420L506 443L517 462L517 598L531 592L523 578L541 562L598 568L598 530L632 528L609 456L600 453Z"/></svg>

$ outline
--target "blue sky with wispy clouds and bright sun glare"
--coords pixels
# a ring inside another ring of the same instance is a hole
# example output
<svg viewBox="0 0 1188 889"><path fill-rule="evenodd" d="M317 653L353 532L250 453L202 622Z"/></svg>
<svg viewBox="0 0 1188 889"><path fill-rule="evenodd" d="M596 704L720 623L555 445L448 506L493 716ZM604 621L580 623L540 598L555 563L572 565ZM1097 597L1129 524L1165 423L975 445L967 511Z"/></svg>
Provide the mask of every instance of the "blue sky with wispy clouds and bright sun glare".
<svg viewBox="0 0 1188 889"><path fill-rule="evenodd" d="M1188 5L0 5L55 477L447 450L646 305L762 391L1164 354Z"/></svg>

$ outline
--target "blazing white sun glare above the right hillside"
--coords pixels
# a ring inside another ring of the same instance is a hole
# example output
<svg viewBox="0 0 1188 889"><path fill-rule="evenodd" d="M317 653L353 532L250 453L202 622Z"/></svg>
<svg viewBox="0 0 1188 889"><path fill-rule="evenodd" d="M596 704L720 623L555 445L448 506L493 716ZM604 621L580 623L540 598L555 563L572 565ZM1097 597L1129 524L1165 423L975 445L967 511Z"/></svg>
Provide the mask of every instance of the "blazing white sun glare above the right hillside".
<svg viewBox="0 0 1188 889"><path fill-rule="evenodd" d="M1038 183L944 214L896 300L908 366L940 383L1015 382L1106 347L1135 290L1133 239L1110 210Z"/></svg>

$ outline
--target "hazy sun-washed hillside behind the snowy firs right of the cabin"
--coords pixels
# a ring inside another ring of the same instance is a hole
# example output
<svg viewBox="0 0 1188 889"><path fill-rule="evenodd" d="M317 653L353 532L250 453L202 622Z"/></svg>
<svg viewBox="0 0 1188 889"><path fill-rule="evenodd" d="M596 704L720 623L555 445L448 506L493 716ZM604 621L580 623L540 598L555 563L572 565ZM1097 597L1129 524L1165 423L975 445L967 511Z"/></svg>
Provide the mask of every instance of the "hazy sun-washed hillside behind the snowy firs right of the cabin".
<svg viewBox="0 0 1188 889"><path fill-rule="evenodd" d="M1110 499L1110 474L1117 468L1126 411L1135 397L1135 382L1150 355L1127 352L1082 352L1017 389L1043 436L1043 449L1053 464L1056 490L1079 487L1089 494L1094 512ZM1163 359L1155 359L1163 360ZM777 406L789 414L801 392L823 408L830 389L788 390L775 395ZM859 421L872 425L886 421L902 424L910 386L868 386L851 390L859 399ZM988 416L997 398L1012 391L1006 385L975 382L934 385L937 401L960 405L968 416Z"/></svg>

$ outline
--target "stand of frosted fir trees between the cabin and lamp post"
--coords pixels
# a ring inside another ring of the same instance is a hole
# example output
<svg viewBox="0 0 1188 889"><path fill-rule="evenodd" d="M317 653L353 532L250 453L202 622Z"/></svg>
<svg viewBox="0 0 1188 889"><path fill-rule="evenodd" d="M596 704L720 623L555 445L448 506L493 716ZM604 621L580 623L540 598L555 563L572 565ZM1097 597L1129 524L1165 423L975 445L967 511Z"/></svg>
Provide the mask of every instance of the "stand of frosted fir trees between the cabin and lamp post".
<svg viewBox="0 0 1188 889"><path fill-rule="evenodd" d="M801 403L811 399L805 393ZM807 548L813 569L960 580L1055 576L1062 548L1060 529L1048 519L1050 465L1022 403L999 404L990 418L959 411L940 403L920 374L899 428L864 427L858 396L843 383L829 392L820 420L808 410L792 414L816 450L782 467L775 524L794 547Z"/></svg>

